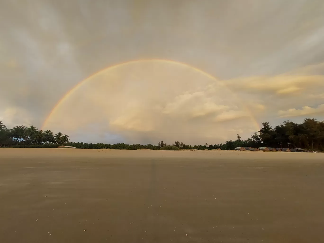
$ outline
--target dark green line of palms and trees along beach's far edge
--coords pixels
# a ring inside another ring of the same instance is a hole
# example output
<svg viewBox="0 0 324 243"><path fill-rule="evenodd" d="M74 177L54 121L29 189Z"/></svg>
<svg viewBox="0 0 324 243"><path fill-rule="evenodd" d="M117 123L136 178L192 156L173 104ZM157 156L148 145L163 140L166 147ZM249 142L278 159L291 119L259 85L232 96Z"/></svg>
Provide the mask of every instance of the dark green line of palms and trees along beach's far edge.
<svg viewBox="0 0 324 243"><path fill-rule="evenodd" d="M119 144L93 144L83 142L69 142L69 136L62 133L53 134L52 131L38 130L34 126L16 126L12 129L6 128L0 121L0 147L57 147L59 145L73 146L87 149L161 149L164 146L173 146L178 149L222 149L232 150L236 147L279 147L279 148L306 148L310 150L324 150L324 121L305 119L302 123L283 121L282 124L272 126L269 122L262 123L258 132L251 138L241 140L237 134L236 140L229 140L225 144L208 145L186 145L176 141L172 145L163 141L158 145L141 145L125 143Z"/></svg>

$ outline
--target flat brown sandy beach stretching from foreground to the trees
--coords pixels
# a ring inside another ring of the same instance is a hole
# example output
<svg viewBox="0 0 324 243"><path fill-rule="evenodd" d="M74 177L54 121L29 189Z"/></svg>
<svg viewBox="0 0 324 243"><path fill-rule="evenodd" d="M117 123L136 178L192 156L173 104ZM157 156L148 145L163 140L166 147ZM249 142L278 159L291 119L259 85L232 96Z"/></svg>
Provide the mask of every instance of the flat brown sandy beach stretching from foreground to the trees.
<svg viewBox="0 0 324 243"><path fill-rule="evenodd" d="M0 148L0 242L324 242L324 153Z"/></svg>

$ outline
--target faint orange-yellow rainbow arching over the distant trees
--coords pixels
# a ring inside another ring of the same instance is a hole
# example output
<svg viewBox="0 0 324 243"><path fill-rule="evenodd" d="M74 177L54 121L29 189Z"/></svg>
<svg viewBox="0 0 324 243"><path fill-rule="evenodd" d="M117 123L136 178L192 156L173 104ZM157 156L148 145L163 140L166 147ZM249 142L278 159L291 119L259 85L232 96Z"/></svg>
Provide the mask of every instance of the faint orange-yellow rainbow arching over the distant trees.
<svg viewBox="0 0 324 243"><path fill-rule="evenodd" d="M51 110L51 112L49 113L49 115L46 117L41 129L44 130L47 126L47 123L48 121L50 120L51 116L53 113L55 113L55 111L57 109L59 109L60 105L64 103L65 100L67 100L71 94L73 94L79 87L81 87L82 85L84 85L85 83L87 83L89 80L91 80L91 78L93 78L94 76L100 74L101 72L106 72L107 70L112 70L114 68L117 68L117 67L121 67L121 66L124 66L124 65L128 65L128 64L133 64L133 63L140 63L140 62L164 62L164 63L169 63L169 64L174 64L174 65L179 65L179 66L183 66L183 67L189 67L193 70L195 70L196 72L199 72L213 80L215 80L216 82L219 82L221 85L223 85L224 87L226 87L230 92L231 94L237 99L240 101L239 97L231 90L229 89L224 82L220 81L219 79L217 79L216 77L214 77L213 75L210 75L206 72L204 72L203 70L200 70L196 67L193 67L189 64L186 64L186 63L181 63L181 62L177 62L177 61L173 61L173 60L165 60L165 59L139 59L139 60L132 60L132 61L127 61L127 62L123 62L123 63L119 63L119 64L115 64L115 65L112 65L112 66L109 66L109 67L106 67L90 76L88 76L86 79L82 80L81 82L79 82L78 84L76 84L74 87L72 87L57 103L56 105L53 107L53 109ZM249 108L244 105L244 102L240 102L242 104L242 107L244 108L244 110L249 114L249 117L250 119L253 121L253 124L255 125L255 127L259 130L260 127L259 127L259 124L258 122L256 121L256 119L254 118L252 112L249 110Z"/></svg>

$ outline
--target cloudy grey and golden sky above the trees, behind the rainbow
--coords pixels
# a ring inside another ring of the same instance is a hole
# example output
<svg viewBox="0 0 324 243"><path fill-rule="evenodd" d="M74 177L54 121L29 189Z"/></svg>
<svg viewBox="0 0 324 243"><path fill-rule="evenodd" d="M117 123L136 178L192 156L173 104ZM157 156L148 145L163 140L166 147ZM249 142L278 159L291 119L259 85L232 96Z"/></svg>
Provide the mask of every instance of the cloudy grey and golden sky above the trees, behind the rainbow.
<svg viewBox="0 0 324 243"><path fill-rule="evenodd" d="M140 59L218 81L167 62L106 69L44 129L85 142L194 144L247 138L255 120L323 120L323 13L322 0L2 1L0 120L41 128L80 81Z"/></svg>

